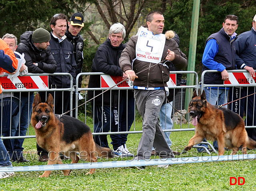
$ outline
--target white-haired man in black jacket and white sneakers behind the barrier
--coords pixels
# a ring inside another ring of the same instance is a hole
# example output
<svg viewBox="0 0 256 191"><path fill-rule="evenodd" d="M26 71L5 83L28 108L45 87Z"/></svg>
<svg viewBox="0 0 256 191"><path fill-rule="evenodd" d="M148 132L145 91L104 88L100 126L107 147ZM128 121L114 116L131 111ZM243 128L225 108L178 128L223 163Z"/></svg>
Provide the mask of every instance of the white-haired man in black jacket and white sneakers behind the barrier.
<svg viewBox="0 0 256 191"><path fill-rule="evenodd" d="M122 72L118 63L121 52L125 48L122 44L124 37L125 28L122 24L115 23L110 27L108 39L99 46L95 54L91 72L103 72L111 76L126 78L126 74ZM100 75L90 76L88 88L100 88ZM91 99L100 93L102 93L102 90L88 91L88 98ZM95 133L108 132L110 129L111 132L130 130L134 120L134 96L131 90L128 90L128 92L125 90L124 92L111 90L105 92L103 96L92 99L91 102L92 111L94 112ZM127 134L110 135L110 137L114 155L117 157L133 156L126 147ZM108 147L107 135L94 135L94 140L98 145Z"/></svg>

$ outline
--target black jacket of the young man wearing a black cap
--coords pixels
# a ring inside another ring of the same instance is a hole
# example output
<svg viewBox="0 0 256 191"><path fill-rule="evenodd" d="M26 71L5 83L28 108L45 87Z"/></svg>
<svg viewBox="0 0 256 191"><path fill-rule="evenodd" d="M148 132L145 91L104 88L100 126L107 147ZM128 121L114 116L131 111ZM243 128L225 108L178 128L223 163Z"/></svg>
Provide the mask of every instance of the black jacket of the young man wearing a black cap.
<svg viewBox="0 0 256 191"><path fill-rule="evenodd" d="M76 60L76 76L82 72L83 68L83 62L84 62L84 56L83 56L83 49L84 49L84 39L80 35L80 32L78 35L73 36L69 31L68 31L68 26L67 30L65 33L67 40L71 42L74 48L74 57ZM81 88L82 84L82 76L80 76L78 80L78 87Z"/></svg>

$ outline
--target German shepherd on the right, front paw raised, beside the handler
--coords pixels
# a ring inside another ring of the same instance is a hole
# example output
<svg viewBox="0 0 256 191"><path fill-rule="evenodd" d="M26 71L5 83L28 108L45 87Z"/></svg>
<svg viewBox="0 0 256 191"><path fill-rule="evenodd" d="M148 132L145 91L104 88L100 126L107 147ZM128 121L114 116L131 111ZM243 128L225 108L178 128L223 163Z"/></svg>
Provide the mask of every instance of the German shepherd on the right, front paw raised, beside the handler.
<svg viewBox="0 0 256 191"><path fill-rule="evenodd" d="M195 126L196 133L189 140L184 152L189 151L204 138L218 141L219 155L224 154L224 147L232 149L232 155L237 153L241 145L243 154L247 153L247 148L256 147L256 141L247 135L242 117L230 109L218 108L208 103L204 90L201 96L194 91L188 112L192 116L192 125Z"/></svg>

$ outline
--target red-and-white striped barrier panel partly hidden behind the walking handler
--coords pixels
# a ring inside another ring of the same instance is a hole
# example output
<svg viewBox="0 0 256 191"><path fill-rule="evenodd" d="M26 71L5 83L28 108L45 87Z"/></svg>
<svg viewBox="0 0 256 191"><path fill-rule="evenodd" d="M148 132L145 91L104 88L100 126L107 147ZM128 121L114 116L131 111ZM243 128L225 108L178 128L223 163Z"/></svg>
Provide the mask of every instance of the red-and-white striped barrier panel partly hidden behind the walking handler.
<svg viewBox="0 0 256 191"><path fill-rule="evenodd" d="M109 75L100 75L100 87L101 88L110 88L119 82L122 82L121 76L109 76ZM168 87L176 86L176 74L170 74L170 80L167 82ZM124 81L121 84L118 84L117 87L132 87L133 83L128 80Z"/></svg>

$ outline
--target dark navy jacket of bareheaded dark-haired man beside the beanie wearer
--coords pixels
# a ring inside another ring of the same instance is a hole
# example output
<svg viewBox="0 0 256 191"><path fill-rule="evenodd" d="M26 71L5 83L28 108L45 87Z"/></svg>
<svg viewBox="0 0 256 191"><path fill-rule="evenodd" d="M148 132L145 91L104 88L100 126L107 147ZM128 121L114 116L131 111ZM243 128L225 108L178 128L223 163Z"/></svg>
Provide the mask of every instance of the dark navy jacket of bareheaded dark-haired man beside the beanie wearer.
<svg viewBox="0 0 256 191"><path fill-rule="evenodd" d="M51 52L57 62L56 72L67 72L73 77L73 86L76 79L76 61L74 58L73 45L64 39L59 43L57 38L52 36L50 40ZM49 85L55 88L70 88L70 78L68 76L49 76Z"/></svg>

